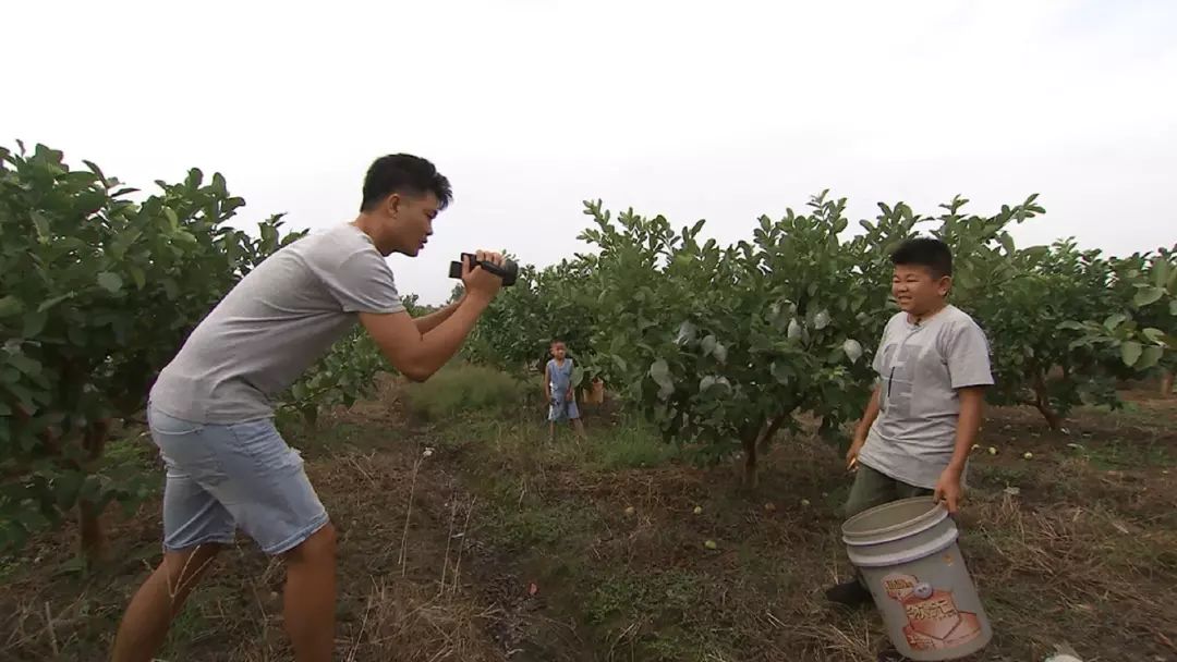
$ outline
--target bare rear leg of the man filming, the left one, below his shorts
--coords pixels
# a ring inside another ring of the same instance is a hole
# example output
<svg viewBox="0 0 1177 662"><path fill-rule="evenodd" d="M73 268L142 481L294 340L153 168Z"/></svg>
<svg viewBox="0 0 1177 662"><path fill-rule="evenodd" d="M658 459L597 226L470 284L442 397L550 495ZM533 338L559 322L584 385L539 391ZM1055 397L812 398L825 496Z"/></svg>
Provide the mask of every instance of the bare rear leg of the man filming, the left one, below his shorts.
<svg viewBox="0 0 1177 662"><path fill-rule="evenodd" d="M206 543L186 551L166 551L164 561L131 599L114 636L113 662L151 662L164 646L172 618L208 570L221 546Z"/></svg>

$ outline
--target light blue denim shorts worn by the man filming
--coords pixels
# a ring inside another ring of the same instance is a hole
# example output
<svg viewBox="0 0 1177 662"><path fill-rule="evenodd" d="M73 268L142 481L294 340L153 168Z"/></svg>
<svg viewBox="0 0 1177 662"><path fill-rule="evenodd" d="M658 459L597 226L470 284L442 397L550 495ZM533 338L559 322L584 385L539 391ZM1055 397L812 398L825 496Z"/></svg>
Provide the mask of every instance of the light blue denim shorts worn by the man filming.
<svg viewBox="0 0 1177 662"><path fill-rule="evenodd" d="M167 467L164 549L230 544L240 528L262 551L282 554L327 523L302 468L272 419L197 423L147 407Z"/></svg>

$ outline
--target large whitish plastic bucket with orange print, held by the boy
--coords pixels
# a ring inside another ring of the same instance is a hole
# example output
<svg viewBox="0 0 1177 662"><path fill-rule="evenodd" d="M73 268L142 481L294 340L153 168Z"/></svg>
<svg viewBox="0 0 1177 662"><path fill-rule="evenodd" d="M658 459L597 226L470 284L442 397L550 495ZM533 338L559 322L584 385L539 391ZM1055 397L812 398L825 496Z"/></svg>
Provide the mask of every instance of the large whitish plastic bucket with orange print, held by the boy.
<svg viewBox="0 0 1177 662"><path fill-rule="evenodd" d="M859 513L842 526L842 541L883 614L887 637L903 655L956 660L992 638L957 547L956 522L931 496Z"/></svg>

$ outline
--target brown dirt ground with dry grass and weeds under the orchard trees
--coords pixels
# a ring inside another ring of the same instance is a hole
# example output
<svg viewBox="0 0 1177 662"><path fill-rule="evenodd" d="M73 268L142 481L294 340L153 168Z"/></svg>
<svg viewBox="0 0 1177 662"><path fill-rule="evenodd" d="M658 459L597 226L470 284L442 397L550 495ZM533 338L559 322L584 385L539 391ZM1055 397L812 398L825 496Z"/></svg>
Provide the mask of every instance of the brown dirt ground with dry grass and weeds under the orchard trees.
<svg viewBox="0 0 1177 662"><path fill-rule="evenodd" d="M1128 400L1068 434L989 413L958 520L995 630L975 660L1177 660L1177 400ZM291 435L339 529L337 660L875 660L878 614L822 594L850 569L838 448L780 439L749 493L734 461L697 467L607 408L586 423L552 444L531 413L424 423L390 388ZM112 453L158 472L139 433ZM0 660L106 658L159 559L158 500L107 522L95 570L71 530L0 561ZM288 660L282 579L241 539L160 660Z"/></svg>

